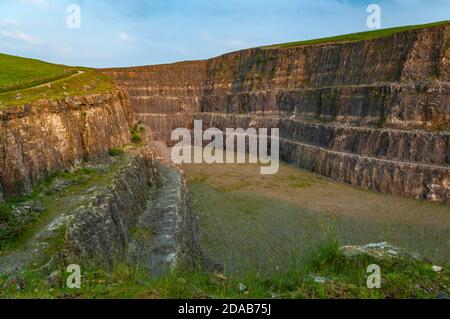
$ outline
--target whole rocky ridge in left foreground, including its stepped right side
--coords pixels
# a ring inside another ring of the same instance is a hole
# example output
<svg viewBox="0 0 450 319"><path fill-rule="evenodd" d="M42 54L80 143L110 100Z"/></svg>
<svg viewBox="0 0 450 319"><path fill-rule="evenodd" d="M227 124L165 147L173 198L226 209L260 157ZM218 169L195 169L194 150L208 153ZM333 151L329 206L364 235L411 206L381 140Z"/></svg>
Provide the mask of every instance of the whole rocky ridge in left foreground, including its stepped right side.
<svg viewBox="0 0 450 319"><path fill-rule="evenodd" d="M182 173L144 149L73 213L66 246L82 261L128 261L156 276L192 266L197 236Z"/></svg>

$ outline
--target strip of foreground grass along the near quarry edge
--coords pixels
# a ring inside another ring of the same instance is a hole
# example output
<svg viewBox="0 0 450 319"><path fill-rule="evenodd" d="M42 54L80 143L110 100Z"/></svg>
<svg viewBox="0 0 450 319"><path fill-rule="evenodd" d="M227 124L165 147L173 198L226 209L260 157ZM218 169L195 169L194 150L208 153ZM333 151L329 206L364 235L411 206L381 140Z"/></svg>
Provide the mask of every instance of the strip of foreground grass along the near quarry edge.
<svg viewBox="0 0 450 319"><path fill-rule="evenodd" d="M381 289L368 289L368 265L381 267ZM175 270L159 278L145 270L116 264L111 270L82 268L81 289L68 289L69 274L60 269L60 288L49 288L47 278L39 273L25 273L21 286L12 285L0 291L0 298L66 298L66 299L203 299L203 298L437 298L449 293L450 272L436 273L431 265L410 259L375 260L366 255L348 259L339 251L335 240L324 243L311 253L302 268L262 277L247 273L240 277L202 269ZM328 280L318 283L313 276ZM0 276L0 285L8 280ZM243 286L242 286L243 285ZM245 289L242 289L245 287Z"/></svg>

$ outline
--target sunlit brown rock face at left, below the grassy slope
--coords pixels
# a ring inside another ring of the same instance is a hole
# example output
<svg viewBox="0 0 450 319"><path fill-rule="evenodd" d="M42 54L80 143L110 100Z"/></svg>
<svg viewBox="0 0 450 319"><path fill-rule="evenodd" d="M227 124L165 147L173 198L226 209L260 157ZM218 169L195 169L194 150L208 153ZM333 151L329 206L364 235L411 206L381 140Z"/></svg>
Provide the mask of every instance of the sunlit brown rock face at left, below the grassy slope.
<svg viewBox="0 0 450 319"><path fill-rule="evenodd" d="M133 121L125 91L39 100L0 111L0 197L31 191L50 174L127 144Z"/></svg>

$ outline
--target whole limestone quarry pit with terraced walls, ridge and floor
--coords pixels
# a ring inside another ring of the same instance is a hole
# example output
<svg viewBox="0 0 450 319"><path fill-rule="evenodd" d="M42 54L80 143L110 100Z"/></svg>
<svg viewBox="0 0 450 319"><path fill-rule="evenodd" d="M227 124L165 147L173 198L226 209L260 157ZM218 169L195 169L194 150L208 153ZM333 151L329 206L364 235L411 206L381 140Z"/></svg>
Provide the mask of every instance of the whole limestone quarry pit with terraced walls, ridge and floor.
<svg viewBox="0 0 450 319"><path fill-rule="evenodd" d="M15 227L0 219L4 289L71 263L286 270L324 223L347 245L389 240L447 263L449 37L447 23L101 69L108 92L3 104L0 202ZM281 173L174 165L171 133L194 120L278 128Z"/></svg>

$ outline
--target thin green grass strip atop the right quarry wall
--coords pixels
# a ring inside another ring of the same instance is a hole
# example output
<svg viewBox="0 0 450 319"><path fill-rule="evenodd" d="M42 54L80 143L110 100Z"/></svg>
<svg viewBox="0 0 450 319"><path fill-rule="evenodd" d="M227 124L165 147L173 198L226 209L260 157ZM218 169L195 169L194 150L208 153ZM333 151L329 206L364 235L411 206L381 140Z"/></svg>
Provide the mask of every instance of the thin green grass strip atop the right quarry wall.
<svg viewBox="0 0 450 319"><path fill-rule="evenodd" d="M321 38L321 39L275 44L275 45L264 46L262 48L264 48L264 49L291 48L291 47L313 45L313 44L355 42L355 41L371 40L371 39L377 39L377 38L382 38L382 37L388 37L388 36L394 35L396 33L404 32L404 31L441 26L441 25L445 25L445 24L449 24L449 20L435 22L435 23L429 23L429 24L411 25L411 26L403 26L403 27L390 28L390 29L381 29L381 30L375 30L375 31L351 33L351 34L345 34L345 35L339 35L339 36L327 37L327 38Z"/></svg>

